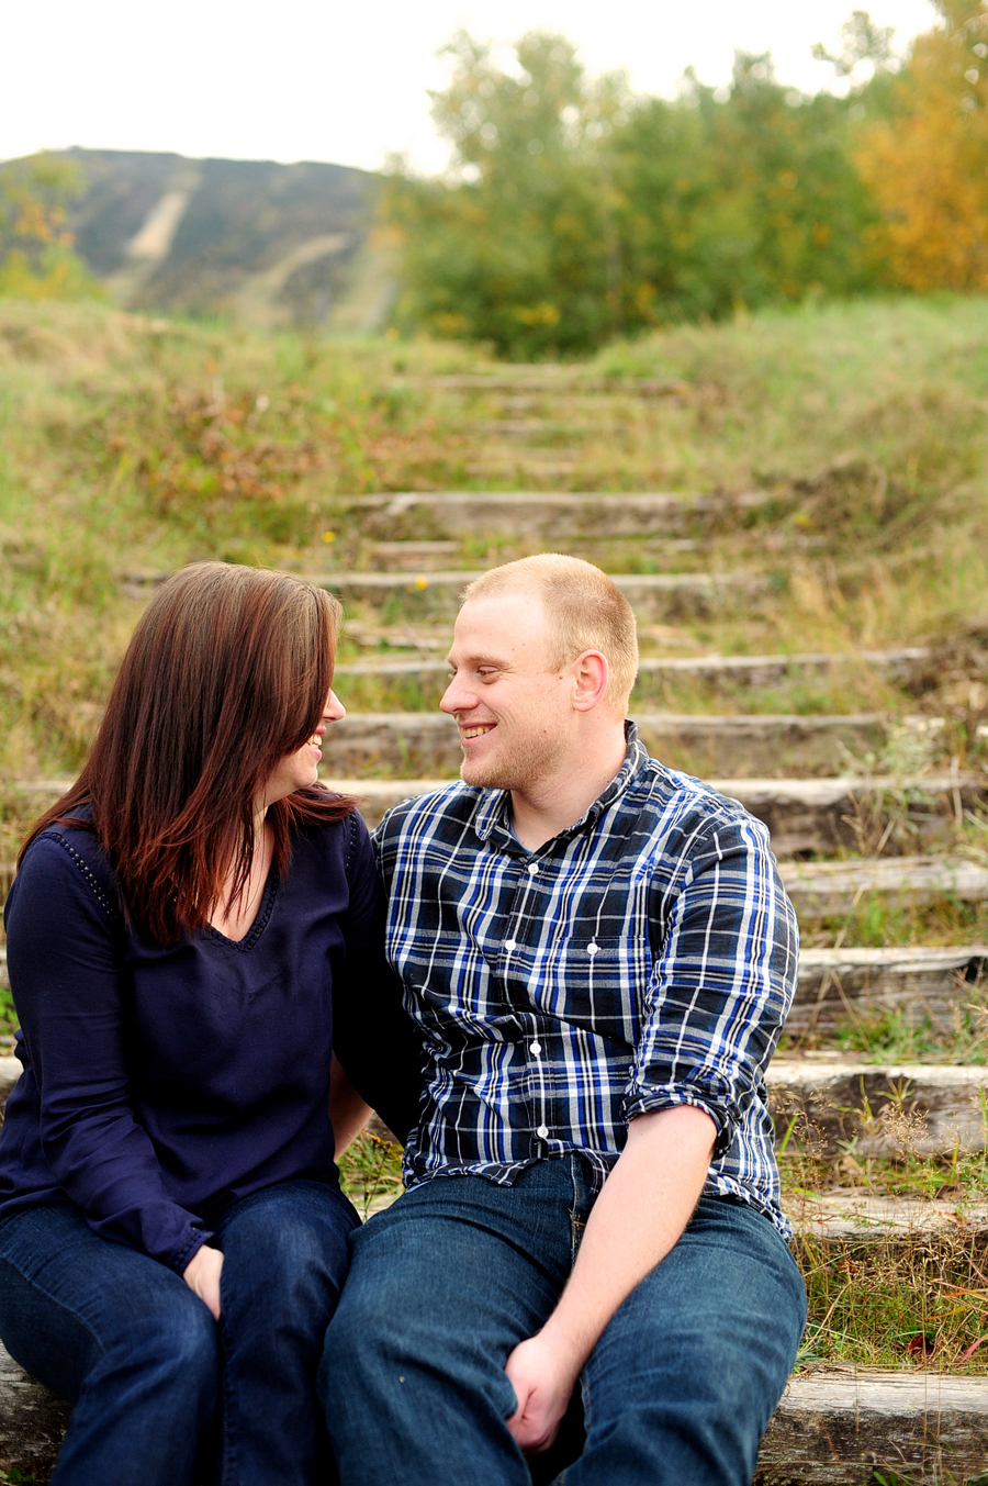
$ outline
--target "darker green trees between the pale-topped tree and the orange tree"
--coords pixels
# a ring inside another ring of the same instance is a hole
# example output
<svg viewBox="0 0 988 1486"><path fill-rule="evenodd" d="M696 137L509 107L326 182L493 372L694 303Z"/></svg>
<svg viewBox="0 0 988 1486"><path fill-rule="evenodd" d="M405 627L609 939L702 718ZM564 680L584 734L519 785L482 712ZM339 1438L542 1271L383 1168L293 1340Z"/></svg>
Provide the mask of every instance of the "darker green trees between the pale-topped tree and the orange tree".
<svg viewBox="0 0 988 1486"><path fill-rule="evenodd" d="M784 89L768 56L738 55L722 101L689 76L640 104L612 152L628 328L874 285L847 106Z"/></svg>

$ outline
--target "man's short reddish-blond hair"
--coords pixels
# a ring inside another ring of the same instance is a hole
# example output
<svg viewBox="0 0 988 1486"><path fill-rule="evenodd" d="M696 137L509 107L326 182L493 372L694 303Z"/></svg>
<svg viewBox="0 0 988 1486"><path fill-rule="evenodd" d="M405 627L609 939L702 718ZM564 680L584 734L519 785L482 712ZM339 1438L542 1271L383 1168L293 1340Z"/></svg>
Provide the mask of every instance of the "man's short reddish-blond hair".
<svg viewBox="0 0 988 1486"><path fill-rule="evenodd" d="M464 590L464 603L526 590L538 596L545 609L550 669L568 666L582 651L600 651L611 667L605 701L624 716L637 676L637 629L631 605L618 585L581 557L541 553L474 578Z"/></svg>

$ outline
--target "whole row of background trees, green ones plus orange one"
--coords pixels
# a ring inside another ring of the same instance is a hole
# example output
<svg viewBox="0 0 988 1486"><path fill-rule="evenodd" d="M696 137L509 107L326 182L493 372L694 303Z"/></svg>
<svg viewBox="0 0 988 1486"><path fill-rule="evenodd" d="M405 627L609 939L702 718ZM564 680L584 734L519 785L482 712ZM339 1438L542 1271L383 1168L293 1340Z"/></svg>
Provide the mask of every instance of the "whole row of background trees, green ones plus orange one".
<svg viewBox="0 0 988 1486"><path fill-rule="evenodd" d="M398 163L383 212L403 239L398 322L499 355L579 355L680 319L881 288L988 287L988 12L937 0L908 53L854 10L839 88L805 97L771 56L729 88L692 71L675 100L591 80L562 36L513 65L461 31L434 117L453 156Z"/></svg>

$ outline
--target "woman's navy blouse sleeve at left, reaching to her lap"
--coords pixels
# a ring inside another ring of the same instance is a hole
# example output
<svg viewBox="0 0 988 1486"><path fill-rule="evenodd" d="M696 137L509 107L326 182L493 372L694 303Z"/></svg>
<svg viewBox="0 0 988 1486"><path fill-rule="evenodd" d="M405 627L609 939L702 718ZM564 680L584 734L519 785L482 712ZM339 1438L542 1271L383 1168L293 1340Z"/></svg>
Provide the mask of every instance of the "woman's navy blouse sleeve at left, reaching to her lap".
<svg viewBox="0 0 988 1486"><path fill-rule="evenodd" d="M178 1274L209 1230L168 1195L129 1098L123 930L83 857L58 838L28 850L7 901L7 964L45 1156L101 1238Z"/></svg>

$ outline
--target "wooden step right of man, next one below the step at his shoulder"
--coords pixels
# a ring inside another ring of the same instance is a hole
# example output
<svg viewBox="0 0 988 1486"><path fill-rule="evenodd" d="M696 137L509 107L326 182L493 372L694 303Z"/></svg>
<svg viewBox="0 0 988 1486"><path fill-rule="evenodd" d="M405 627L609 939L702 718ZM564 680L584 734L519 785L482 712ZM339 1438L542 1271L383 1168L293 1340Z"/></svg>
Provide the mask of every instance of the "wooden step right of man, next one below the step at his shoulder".
<svg viewBox="0 0 988 1486"><path fill-rule="evenodd" d="M958 856L899 856L851 862L783 862L786 892L805 918L847 914L877 896L918 906L988 896L988 868Z"/></svg>

